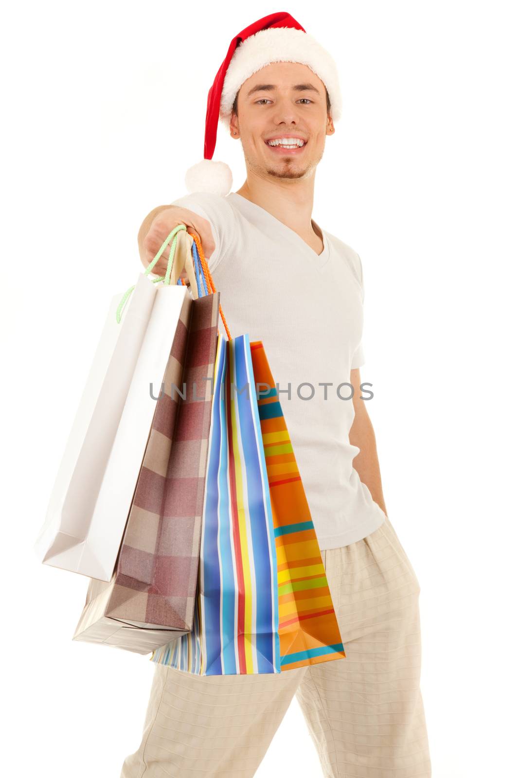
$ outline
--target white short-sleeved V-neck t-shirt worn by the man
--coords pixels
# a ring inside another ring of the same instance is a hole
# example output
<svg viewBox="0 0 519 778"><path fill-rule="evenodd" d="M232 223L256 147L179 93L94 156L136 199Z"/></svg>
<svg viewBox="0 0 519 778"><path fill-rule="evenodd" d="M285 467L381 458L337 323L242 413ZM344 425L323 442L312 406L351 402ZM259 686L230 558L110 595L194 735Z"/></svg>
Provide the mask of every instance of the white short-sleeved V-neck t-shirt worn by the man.
<svg viewBox="0 0 519 778"><path fill-rule="evenodd" d="M385 514L352 467L359 448L348 437L350 370L364 364L359 255L314 222L324 241L317 255L236 192L195 192L171 205L211 224L216 249L208 265L231 337L263 342L320 548L365 538ZM225 336L221 317L219 331Z"/></svg>

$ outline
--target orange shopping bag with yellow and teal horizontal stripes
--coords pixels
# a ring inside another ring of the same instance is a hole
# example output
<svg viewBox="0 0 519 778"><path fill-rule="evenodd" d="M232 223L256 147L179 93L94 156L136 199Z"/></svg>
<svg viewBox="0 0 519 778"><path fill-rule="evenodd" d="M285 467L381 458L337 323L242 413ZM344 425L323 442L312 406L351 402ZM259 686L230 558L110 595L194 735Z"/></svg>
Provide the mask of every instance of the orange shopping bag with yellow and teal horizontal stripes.
<svg viewBox="0 0 519 778"><path fill-rule="evenodd" d="M251 343L278 571L281 669L345 657L321 551L275 381L260 341Z"/></svg>

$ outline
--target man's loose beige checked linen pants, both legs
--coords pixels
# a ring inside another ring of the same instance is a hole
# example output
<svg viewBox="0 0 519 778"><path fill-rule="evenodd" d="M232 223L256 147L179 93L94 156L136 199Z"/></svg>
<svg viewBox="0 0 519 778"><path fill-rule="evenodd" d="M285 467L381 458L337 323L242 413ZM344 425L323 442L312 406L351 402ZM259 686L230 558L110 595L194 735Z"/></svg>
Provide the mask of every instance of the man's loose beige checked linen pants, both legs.
<svg viewBox="0 0 519 778"><path fill-rule="evenodd" d="M252 778L294 695L325 778L430 778L420 587L395 529L321 555L346 657L272 675L156 664L121 778Z"/></svg>

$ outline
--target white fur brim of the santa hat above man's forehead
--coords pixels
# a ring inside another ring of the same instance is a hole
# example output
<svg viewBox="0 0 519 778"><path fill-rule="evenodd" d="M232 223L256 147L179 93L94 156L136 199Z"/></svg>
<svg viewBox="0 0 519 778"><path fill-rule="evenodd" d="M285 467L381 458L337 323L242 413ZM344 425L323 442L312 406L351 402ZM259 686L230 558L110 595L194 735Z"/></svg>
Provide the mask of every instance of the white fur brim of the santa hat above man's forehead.
<svg viewBox="0 0 519 778"><path fill-rule="evenodd" d="M307 65L324 83L330 97L333 121L342 114L342 97L337 66L321 44L303 30L293 27L269 27L246 38L234 51L223 80L219 118L230 126L234 98L240 86L253 73L272 62L299 62Z"/></svg>

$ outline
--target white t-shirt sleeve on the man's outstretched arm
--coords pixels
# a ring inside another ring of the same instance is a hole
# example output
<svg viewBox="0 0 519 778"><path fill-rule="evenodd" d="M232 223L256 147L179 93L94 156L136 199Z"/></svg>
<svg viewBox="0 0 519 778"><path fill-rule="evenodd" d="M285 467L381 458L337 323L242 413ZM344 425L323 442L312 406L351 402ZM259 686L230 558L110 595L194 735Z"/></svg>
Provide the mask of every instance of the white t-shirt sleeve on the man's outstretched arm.
<svg viewBox="0 0 519 778"><path fill-rule="evenodd" d="M237 224L233 206L225 196L213 195L210 192L192 192L191 195L174 200L170 205L187 208L207 219L211 225L215 250L209 257L208 267L213 272L222 257L232 251L236 241Z"/></svg>

